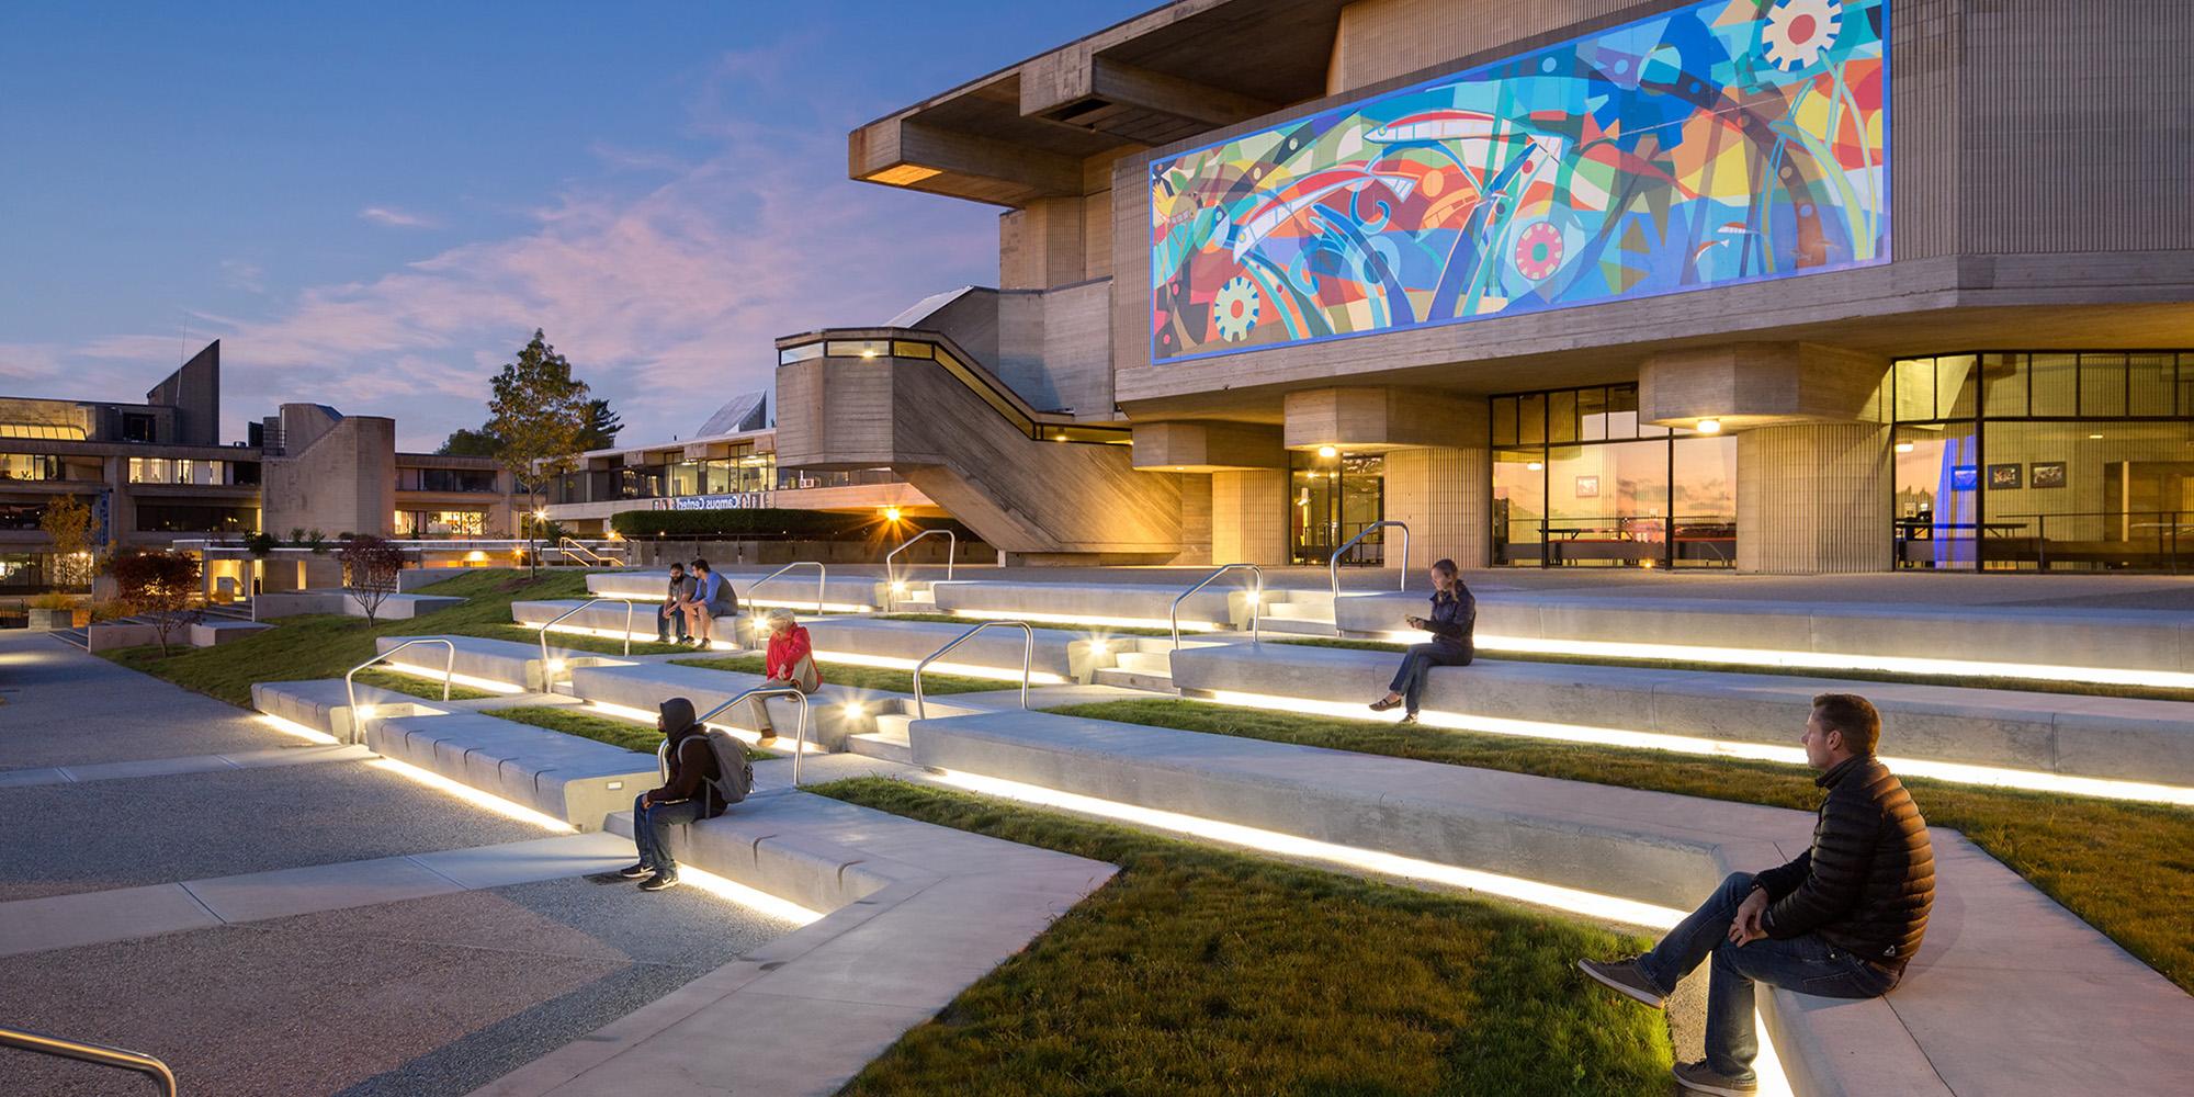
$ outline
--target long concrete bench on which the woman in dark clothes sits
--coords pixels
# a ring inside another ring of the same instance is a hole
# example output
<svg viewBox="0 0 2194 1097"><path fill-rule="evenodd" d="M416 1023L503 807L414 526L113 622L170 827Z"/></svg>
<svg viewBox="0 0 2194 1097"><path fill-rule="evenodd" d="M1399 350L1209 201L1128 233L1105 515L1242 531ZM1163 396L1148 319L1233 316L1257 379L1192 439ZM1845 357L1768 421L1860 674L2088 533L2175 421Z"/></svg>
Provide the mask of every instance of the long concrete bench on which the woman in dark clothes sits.
<svg viewBox="0 0 2194 1097"><path fill-rule="evenodd" d="M1183 647L1174 685L1325 702L1387 693L1400 654L1288 643ZM2194 785L2194 704L1771 674L1479 660L1435 667L1424 709L1792 746L1817 693L1882 713L1882 753L2014 770ZM1371 717L1367 711L1365 717Z"/></svg>

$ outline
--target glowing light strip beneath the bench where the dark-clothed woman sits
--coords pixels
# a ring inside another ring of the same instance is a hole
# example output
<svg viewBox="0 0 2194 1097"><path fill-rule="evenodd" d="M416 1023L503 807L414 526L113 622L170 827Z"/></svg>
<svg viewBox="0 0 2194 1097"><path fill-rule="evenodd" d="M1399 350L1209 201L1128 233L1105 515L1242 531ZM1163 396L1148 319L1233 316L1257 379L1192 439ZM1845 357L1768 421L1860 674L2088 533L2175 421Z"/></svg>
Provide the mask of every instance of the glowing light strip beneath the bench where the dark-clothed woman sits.
<svg viewBox="0 0 2194 1097"><path fill-rule="evenodd" d="M1191 700L1207 700L1213 704L1235 704L1242 709L1268 709L1279 713L1314 713L1314 715L1338 715L1345 720L1380 720L1378 715L1369 715L1362 704L1312 700L1312 698L1279 698L1270 693L1237 693L1229 689L1213 689L1209 691L1209 695L1202 698L1191 695ZM1391 715L1387 720L1400 720L1400 715ZM1624 746L1635 750L1672 750L1678 755L1738 757L1751 761L1779 761L1786 766L1806 764L1806 748L1801 746L1700 739L1694 735L1667 735L1659 731L1593 728L1584 724L1551 724L1542 720L1441 713L1435 709L1424 709L1422 713L1417 713L1417 722L1433 728L1481 731L1488 735L1516 735L1525 739L1560 739L1560 742L1593 744L1593 746ZM1929 761L1929 759L1909 759L1896 755L1882 755L1882 764L1904 777L1935 777L1939 781L1955 781L1966 785L2021 788L2032 792L2067 792L2073 796L2097 796L2111 801L2194 805L2194 788L2179 788L2179 785L2111 781L2102 777L2067 777L2056 772L2012 770L2001 766L1970 766L1961 761Z"/></svg>

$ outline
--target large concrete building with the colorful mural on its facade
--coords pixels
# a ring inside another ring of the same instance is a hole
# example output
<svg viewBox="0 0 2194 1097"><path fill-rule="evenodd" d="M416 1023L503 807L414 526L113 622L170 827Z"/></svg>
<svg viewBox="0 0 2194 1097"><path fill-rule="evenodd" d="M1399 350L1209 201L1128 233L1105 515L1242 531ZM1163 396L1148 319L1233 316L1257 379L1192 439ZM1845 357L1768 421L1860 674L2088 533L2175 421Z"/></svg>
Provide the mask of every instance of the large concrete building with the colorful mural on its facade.
<svg viewBox="0 0 2194 1097"><path fill-rule="evenodd" d="M1000 285L779 340L777 456L1031 562L2194 566L2190 35L1165 4L851 134Z"/></svg>

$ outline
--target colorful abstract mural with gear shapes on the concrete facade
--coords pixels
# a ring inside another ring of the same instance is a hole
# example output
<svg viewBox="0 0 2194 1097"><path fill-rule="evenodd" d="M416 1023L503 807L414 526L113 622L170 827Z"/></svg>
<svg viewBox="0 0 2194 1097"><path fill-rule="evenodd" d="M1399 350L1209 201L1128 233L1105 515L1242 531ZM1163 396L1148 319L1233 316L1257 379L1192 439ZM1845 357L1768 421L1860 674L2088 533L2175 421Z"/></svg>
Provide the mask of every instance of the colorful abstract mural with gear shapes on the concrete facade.
<svg viewBox="0 0 2194 1097"><path fill-rule="evenodd" d="M1150 165L1152 362L1889 261L1887 0L1707 0Z"/></svg>

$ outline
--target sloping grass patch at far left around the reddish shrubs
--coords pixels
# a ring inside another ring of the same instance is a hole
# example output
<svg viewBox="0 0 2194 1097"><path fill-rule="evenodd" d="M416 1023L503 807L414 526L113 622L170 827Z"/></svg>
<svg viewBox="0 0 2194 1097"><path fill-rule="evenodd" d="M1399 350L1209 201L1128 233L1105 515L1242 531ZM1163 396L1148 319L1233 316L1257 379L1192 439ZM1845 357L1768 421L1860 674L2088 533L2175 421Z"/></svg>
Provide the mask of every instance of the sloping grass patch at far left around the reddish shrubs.
<svg viewBox="0 0 2194 1097"><path fill-rule="evenodd" d="M419 592L452 595L467 601L408 621L382 621L377 625L366 625L362 617L279 617L268 621L274 627L219 647L180 647L167 658L160 658L158 647L127 647L105 652L105 656L129 669L167 678L184 689L248 709L252 704L252 682L342 678L351 667L373 658L373 641L380 636L445 634L509 638L502 630L513 627L513 601L588 597L586 575L575 570L544 570L533 581L524 575L513 577L507 570L478 570L456 575ZM524 632L531 641L533 632ZM557 643L559 638L551 638L551 645ZM406 649L404 656L406 663L437 667L441 652L421 645ZM441 695L439 685L434 687L434 695Z"/></svg>

